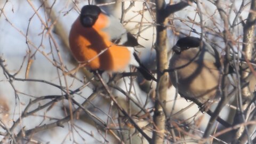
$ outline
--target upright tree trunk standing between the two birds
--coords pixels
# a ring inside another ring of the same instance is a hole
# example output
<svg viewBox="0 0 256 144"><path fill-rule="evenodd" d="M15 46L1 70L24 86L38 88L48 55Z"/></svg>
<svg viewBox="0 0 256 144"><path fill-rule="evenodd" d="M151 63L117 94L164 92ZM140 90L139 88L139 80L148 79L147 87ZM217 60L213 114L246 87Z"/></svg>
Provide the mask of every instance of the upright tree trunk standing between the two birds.
<svg viewBox="0 0 256 144"><path fill-rule="evenodd" d="M153 132L153 143L164 142L165 119L163 107L165 107L166 91L167 91L167 73L163 73L168 68L167 47L166 47L166 20L164 17L165 2L163 0L156 1L156 22L157 22L157 38L156 38L156 55L157 55L157 89L154 111L155 131Z"/></svg>

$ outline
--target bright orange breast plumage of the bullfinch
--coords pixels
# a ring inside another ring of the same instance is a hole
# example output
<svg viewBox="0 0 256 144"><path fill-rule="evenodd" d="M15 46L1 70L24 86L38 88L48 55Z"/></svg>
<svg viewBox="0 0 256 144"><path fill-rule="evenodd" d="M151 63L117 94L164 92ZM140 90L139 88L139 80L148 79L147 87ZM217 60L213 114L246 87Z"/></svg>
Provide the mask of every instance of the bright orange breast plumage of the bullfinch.
<svg viewBox="0 0 256 144"><path fill-rule="evenodd" d="M122 71L129 65L131 53L126 47L109 41L108 35L101 30L107 24L103 14L92 28L84 28L77 18L69 34L70 49L79 62L86 63L92 70Z"/></svg>

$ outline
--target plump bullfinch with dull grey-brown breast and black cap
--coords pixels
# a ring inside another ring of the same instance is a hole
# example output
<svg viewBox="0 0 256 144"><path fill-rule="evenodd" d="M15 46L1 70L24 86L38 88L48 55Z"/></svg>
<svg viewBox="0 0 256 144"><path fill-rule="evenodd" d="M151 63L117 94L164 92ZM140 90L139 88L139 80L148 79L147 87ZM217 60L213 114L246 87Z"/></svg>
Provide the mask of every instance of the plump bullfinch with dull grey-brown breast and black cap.
<svg viewBox="0 0 256 144"><path fill-rule="evenodd" d="M170 79L181 97L197 105L219 95L220 55L209 44L196 37L180 38L173 46Z"/></svg>

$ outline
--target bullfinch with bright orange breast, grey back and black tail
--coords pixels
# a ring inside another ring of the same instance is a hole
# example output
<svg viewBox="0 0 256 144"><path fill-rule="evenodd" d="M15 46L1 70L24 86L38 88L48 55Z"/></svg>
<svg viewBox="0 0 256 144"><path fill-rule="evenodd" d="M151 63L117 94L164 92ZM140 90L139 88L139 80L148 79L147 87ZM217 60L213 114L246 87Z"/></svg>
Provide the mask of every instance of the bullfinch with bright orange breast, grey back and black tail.
<svg viewBox="0 0 256 144"><path fill-rule="evenodd" d="M121 72L132 65L147 80L156 80L134 53L137 39L97 5L82 8L71 27L69 45L76 60L91 70Z"/></svg>

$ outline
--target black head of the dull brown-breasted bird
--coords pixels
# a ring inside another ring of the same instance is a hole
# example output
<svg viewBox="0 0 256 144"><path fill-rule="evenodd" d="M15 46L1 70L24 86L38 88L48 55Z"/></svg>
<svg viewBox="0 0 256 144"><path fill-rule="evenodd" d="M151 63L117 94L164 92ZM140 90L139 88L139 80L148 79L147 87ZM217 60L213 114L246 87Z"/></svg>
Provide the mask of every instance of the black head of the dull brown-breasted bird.
<svg viewBox="0 0 256 144"><path fill-rule="evenodd" d="M185 51L187 49L190 49L192 47L199 47L200 46L200 38L197 37L183 37L180 38L179 41L173 46L172 50L175 53L181 53L182 51Z"/></svg>

